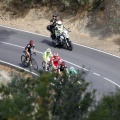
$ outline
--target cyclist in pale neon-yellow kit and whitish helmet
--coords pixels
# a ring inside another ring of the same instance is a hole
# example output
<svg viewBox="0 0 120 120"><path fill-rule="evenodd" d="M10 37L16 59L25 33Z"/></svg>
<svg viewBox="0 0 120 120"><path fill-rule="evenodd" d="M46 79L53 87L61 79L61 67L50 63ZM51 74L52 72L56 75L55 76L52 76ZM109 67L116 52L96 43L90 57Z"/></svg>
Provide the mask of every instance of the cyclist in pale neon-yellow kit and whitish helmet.
<svg viewBox="0 0 120 120"><path fill-rule="evenodd" d="M50 62L50 58L53 56L51 49L48 48L44 53L43 53L43 60L46 63L46 70L47 70L47 63Z"/></svg>

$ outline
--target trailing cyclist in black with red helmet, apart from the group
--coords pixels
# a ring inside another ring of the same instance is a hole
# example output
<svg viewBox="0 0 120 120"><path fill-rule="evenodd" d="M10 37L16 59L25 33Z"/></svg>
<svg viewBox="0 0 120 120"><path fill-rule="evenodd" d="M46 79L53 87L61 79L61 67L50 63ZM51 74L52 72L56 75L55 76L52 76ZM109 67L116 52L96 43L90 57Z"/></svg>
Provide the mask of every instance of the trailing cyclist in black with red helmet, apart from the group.
<svg viewBox="0 0 120 120"><path fill-rule="evenodd" d="M26 51L26 56L27 56L27 63L30 60L30 55L31 55L31 49L33 48L33 52L34 54L36 54L36 50L35 50L35 45L34 45L34 41L30 40L29 44L27 44L27 46L25 47L25 51Z"/></svg>

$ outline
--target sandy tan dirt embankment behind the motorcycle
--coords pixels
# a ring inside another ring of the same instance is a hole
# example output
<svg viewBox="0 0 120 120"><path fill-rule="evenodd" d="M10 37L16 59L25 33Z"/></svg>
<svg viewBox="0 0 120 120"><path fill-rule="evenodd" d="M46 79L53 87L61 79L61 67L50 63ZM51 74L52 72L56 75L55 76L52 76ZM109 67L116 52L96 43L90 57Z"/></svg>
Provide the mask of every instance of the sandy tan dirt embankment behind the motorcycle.
<svg viewBox="0 0 120 120"><path fill-rule="evenodd" d="M10 12L0 11L0 24L30 32L49 36L46 30L50 17L57 9L49 8L31 9L25 17L16 18ZM116 0L109 0L103 8L87 13L78 11L74 13L59 13L59 19L64 26L69 27L73 42L96 48L120 56L120 36L114 34L112 21L120 17L120 5ZM112 26L111 26L112 25Z"/></svg>

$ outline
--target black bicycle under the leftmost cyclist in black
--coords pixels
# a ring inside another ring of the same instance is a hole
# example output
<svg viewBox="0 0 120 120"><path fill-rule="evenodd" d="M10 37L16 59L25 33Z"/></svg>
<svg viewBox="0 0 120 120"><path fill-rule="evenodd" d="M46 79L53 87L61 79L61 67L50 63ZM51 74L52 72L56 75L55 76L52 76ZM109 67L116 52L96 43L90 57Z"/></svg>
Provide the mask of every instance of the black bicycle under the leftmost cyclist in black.
<svg viewBox="0 0 120 120"><path fill-rule="evenodd" d="M36 55L36 54L35 53L31 53L29 62L26 62L27 61L26 51L23 51L23 53L25 54L25 55L21 56L21 62L23 64L23 66L24 67L31 66L31 67L34 68L34 70L38 70L38 64L37 64L36 60L34 58L32 58L32 55L33 54Z"/></svg>

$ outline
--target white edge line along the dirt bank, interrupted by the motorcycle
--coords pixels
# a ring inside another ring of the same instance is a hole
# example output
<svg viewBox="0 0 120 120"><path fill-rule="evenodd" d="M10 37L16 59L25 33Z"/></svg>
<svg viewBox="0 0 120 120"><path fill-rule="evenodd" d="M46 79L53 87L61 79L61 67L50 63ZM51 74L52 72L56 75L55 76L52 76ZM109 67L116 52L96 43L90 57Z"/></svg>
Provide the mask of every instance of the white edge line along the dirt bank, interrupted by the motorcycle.
<svg viewBox="0 0 120 120"><path fill-rule="evenodd" d="M26 30L21 30L21 29L17 29L17 28L8 27L8 26L5 26L5 25L0 25L0 26L1 27L5 27L5 28L9 28L9 29L13 29L13 30L17 30L17 31L22 31L22 32L26 32L26 33L31 33L31 34L39 35L39 36L50 37L50 36L46 36L46 35L39 34L39 33L34 33L34 32L29 32L29 31L26 31ZM73 44L78 45L78 46L82 46L82 47L85 47L85 48L88 48L88 49L91 49L91 50L95 50L95 51L98 51L98 52L101 52L101 53L105 53L105 54L108 54L108 55L111 55L111 56L114 56L114 57L117 57L117 58L120 58L117 55L113 55L111 53L107 53L107 52L102 51L102 50L98 50L98 49L91 48L91 47L88 47L88 46L85 46L85 45L81 45L81 44L78 44L78 43L74 43L74 42L73 42Z"/></svg>

